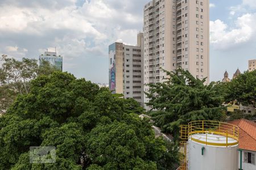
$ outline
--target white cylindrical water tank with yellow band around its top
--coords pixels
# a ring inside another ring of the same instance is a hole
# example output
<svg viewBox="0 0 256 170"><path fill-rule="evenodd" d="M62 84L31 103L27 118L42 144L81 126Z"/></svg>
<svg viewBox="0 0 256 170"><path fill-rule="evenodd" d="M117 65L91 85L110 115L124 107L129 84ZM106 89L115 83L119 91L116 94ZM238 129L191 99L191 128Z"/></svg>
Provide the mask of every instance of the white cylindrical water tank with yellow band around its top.
<svg viewBox="0 0 256 170"><path fill-rule="evenodd" d="M188 170L238 169L237 143L236 139L220 134L191 134L187 142Z"/></svg>

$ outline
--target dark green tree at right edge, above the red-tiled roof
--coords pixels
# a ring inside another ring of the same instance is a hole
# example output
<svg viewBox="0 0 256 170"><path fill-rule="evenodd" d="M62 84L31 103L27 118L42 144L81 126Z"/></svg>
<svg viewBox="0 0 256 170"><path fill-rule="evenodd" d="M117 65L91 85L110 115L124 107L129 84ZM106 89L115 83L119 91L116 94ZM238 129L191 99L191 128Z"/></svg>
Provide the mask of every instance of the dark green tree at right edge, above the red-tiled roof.
<svg viewBox="0 0 256 170"><path fill-rule="evenodd" d="M226 103L237 101L242 105L256 106L256 70L240 74L226 83Z"/></svg>

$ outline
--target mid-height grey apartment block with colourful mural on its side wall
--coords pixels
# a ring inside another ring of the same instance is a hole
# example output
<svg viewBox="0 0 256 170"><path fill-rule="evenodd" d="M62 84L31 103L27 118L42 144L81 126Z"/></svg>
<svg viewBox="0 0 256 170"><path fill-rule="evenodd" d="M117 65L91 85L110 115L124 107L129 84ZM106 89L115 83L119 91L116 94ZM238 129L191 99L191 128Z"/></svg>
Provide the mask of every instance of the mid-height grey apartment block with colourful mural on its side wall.
<svg viewBox="0 0 256 170"><path fill-rule="evenodd" d="M115 42L109 45L109 89L143 105L143 33L138 46Z"/></svg>

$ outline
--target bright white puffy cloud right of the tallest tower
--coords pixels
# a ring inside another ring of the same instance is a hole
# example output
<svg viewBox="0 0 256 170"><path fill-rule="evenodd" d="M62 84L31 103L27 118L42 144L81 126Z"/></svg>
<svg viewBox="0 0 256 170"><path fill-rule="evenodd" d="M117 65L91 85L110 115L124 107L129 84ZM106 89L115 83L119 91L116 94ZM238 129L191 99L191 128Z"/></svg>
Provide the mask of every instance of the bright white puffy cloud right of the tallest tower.
<svg viewBox="0 0 256 170"><path fill-rule="evenodd" d="M210 21L210 43L217 49L228 49L256 39L256 14L245 14L229 28L221 20Z"/></svg>

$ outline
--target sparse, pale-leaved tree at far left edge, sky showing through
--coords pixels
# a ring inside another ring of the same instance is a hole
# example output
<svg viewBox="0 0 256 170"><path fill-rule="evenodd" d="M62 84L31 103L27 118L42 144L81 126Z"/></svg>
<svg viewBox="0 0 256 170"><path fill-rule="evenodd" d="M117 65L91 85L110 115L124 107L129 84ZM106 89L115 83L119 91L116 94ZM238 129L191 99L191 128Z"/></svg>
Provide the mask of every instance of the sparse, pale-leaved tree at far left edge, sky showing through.
<svg viewBox="0 0 256 170"><path fill-rule="evenodd" d="M42 61L39 66L36 59L22 58L18 61L2 55L0 61L0 112L6 110L16 96L30 92L30 80L56 71L47 61Z"/></svg>

